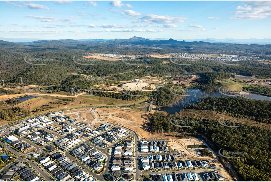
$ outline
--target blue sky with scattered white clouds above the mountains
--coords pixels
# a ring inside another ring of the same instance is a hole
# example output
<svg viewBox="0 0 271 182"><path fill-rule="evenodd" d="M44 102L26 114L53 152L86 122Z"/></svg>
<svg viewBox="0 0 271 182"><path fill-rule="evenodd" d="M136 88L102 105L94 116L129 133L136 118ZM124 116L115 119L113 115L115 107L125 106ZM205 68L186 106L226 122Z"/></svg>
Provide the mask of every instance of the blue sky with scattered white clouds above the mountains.
<svg viewBox="0 0 271 182"><path fill-rule="evenodd" d="M271 38L271 1L0 1L0 37Z"/></svg>

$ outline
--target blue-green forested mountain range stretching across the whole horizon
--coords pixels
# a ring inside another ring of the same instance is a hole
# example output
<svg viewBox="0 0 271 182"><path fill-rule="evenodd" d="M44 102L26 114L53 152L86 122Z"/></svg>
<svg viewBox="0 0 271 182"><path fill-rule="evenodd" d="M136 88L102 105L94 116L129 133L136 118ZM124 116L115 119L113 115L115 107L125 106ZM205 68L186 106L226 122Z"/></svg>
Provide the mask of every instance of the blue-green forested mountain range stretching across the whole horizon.
<svg viewBox="0 0 271 182"><path fill-rule="evenodd" d="M6 47L8 49L36 49L36 50L71 50L81 49L85 51L92 51L93 49L109 49L106 47L116 48L160 48L160 49L178 49L186 52L199 52L199 53L217 53L221 52L249 52L255 54L271 54L271 44L236 44L236 43L224 43L224 42L204 42L204 41L178 41L174 39L166 40L151 40L143 37L132 37L129 39L60 39L60 40L35 40L32 42L7 42L0 40L0 47Z"/></svg>

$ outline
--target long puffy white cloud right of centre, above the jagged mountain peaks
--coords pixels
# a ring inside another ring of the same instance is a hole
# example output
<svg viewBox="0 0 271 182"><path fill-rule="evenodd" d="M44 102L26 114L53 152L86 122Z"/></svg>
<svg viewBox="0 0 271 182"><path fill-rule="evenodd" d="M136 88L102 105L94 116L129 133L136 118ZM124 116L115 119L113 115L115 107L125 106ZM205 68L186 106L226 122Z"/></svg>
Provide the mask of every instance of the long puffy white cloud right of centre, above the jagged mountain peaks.
<svg viewBox="0 0 271 182"><path fill-rule="evenodd" d="M159 16L156 14L149 14L141 18L144 22L149 23L178 23L187 20L186 17L174 17L174 16Z"/></svg>

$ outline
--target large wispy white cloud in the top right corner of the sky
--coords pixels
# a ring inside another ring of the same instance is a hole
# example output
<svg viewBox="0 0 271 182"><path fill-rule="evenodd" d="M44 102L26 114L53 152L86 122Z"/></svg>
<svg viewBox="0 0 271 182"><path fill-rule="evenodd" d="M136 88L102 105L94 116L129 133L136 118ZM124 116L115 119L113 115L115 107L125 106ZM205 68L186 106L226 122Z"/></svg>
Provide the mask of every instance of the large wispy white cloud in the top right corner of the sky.
<svg viewBox="0 0 271 182"><path fill-rule="evenodd" d="M230 19L264 19L271 15L271 1L242 1Z"/></svg>

